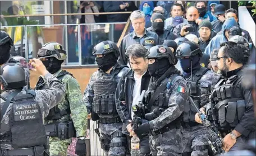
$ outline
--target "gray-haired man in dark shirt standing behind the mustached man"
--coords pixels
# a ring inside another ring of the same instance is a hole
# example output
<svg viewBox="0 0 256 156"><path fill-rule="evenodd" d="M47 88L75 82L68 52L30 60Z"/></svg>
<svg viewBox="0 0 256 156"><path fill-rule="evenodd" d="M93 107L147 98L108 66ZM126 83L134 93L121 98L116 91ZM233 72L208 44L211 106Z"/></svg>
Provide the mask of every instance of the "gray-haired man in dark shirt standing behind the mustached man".
<svg viewBox="0 0 256 156"><path fill-rule="evenodd" d="M124 39L122 39L121 45L119 47L120 56L118 58L118 63L126 65L128 59L125 55L126 49L129 45L139 43L142 44L145 37L154 37L158 44L158 35L155 32L150 32L145 29L145 14L139 10L131 13L130 16L132 27L134 31L127 34Z"/></svg>

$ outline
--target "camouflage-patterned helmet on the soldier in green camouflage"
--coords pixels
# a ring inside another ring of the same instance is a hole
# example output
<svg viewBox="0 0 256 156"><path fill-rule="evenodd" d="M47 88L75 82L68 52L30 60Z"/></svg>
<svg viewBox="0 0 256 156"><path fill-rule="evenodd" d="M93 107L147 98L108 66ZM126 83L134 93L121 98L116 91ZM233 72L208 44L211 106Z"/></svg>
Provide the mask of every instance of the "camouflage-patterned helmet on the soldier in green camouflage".
<svg viewBox="0 0 256 156"><path fill-rule="evenodd" d="M65 60L67 58L67 52L61 44L57 42L48 42L38 50L38 58L42 59L49 57L54 57L58 60Z"/></svg>

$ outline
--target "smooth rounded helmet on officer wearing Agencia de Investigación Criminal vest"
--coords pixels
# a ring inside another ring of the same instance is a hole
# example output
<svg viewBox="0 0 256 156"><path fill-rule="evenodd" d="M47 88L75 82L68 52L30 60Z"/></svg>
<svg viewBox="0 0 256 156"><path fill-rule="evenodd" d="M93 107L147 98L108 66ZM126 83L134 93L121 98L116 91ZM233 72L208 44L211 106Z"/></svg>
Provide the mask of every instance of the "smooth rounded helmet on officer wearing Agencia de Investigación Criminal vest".
<svg viewBox="0 0 256 156"><path fill-rule="evenodd" d="M22 88L28 84L24 68L15 63L6 63L1 67L1 83L4 89Z"/></svg>

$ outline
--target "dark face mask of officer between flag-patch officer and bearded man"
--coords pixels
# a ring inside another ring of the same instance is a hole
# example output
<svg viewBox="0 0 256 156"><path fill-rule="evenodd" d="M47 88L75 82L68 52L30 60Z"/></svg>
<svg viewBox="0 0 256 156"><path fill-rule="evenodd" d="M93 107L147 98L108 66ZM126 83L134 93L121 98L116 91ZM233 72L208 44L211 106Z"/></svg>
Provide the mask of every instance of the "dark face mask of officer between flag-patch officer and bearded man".
<svg viewBox="0 0 256 156"><path fill-rule="evenodd" d="M191 73L191 66L192 70L200 68L200 57L198 55L195 55L192 57L192 65L191 65L191 59L180 59L180 66L182 70L186 73Z"/></svg>

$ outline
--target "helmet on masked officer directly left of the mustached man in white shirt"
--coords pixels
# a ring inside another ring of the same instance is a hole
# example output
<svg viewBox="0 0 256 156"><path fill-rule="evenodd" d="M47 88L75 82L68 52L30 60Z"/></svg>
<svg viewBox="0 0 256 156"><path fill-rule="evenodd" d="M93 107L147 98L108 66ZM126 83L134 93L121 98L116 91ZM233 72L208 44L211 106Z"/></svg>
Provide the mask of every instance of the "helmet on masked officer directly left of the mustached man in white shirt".
<svg viewBox="0 0 256 156"><path fill-rule="evenodd" d="M93 48L93 55L102 54L106 55L109 53L114 53L116 58L119 56L119 49L115 42L112 41L102 41L95 45Z"/></svg>

